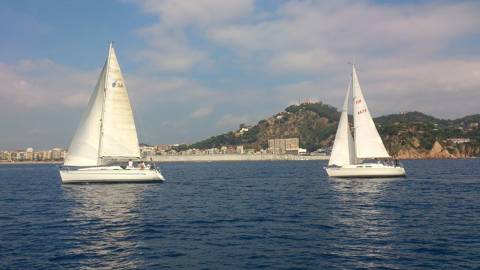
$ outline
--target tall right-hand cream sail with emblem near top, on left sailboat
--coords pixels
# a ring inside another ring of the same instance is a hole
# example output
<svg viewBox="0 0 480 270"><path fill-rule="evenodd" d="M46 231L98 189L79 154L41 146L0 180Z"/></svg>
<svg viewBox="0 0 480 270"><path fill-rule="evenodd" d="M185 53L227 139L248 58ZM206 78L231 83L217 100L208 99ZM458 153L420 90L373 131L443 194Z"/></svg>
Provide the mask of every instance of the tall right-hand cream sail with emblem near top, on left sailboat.
<svg viewBox="0 0 480 270"><path fill-rule="evenodd" d="M100 140L100 159L121 160L140 157L132 107L115 51L111 45L108 52L105 105Z"/></svg>

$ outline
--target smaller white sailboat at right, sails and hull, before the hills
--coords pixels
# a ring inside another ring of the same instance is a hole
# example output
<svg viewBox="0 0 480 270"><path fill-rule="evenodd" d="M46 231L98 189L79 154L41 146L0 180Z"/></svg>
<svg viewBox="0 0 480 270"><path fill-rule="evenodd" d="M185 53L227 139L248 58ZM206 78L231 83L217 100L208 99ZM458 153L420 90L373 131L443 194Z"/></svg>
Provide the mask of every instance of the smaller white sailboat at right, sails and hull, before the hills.
<svg viewBox="0 0 480 270"><path fill-rule="evenodd" d="M350 89L353 90L354 138L348 126ZM392 162L378 134L358 82L355 65L352 66L352 78L326 171L332 177L405 176L405 169L397 161Z"/></svg>

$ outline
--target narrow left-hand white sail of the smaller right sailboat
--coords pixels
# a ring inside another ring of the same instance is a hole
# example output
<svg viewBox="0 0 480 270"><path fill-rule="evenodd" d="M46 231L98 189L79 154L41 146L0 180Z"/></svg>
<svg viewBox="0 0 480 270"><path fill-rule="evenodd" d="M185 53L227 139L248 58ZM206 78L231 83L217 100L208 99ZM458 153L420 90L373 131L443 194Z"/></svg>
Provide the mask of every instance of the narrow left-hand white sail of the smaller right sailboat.
<svg viewBox="0 0 480 270"><path fill-rule="evenodd" d="M347 94L343 101L342 114L338 122L337 134L333 142L332 154L328 165L350 165L355 163L355 146L353 143L352 133L348 126L348 101L350 96L351 81L348 84Z"/></svg>

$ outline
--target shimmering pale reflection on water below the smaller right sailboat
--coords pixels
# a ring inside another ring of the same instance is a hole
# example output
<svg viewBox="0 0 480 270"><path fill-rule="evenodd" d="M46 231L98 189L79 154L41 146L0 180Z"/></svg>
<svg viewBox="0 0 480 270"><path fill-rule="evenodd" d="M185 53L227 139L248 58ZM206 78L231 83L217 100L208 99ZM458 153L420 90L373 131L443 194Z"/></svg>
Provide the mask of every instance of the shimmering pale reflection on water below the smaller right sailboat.
<svg viewBox="0 0 480 270"><path fill-rule="evenodd" d="M333 212L342 241L336 253L353 259L355 267L388 267L395 256L391 243L395 236L395 216L389 211L389 196L404 178L328 178L340 211ZM365 262L370 262L366 264ZM362 263L363 262L363 263Z"/></svg>

